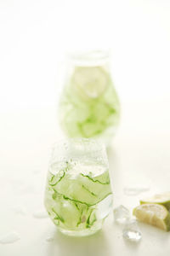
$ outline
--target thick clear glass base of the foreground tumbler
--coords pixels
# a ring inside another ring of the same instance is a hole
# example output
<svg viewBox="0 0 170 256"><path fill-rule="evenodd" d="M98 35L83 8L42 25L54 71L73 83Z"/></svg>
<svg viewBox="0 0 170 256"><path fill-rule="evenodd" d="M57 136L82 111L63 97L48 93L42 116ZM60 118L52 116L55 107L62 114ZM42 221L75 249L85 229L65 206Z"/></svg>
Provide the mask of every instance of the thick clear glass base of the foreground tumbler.
<svg viewBox="0 0 170 256"><path fill-rule="evenodd" d="M101 230L101 226L96 229L96 230L80 230L80 231L75 231L75 230L64 230L61 228L58 228L59 232L61 232L62 234L65 234L66 236L92 236L94 235L96 232L98 232L99 230Z"/></svg>

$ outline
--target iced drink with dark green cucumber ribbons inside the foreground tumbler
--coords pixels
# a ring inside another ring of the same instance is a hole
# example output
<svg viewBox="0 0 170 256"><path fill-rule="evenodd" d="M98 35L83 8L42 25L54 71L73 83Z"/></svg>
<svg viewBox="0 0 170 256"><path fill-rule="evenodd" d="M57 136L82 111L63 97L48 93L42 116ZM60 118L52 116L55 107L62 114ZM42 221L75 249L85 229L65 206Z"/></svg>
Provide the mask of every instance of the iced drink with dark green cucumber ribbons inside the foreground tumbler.
<svg viewBox="0 0 170 256"><path fill-rule="evenodd" d="M99 169L96 165L75 167L74 162L64 166L65 169L56 175L49 172L45 193L48 214L61 229L98 230L103 218L97 214L105 211L105 203L102 209L98 207L99 203L112 194L109 172L102 172L104 167ZM89 172L91 169L96 172ZM94 173L95 177L92 176Z"/></svg>

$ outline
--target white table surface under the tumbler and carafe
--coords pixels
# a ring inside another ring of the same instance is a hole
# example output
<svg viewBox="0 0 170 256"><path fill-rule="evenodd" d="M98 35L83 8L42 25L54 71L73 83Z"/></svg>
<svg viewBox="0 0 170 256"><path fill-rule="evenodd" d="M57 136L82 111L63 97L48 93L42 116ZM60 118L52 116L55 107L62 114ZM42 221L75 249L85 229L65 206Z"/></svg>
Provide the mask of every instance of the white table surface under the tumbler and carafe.
<svg viewBox="0 0 170 256"><path fill-rule="evenodd" d="M166 102L122 103L122 125L108 150L114 207L131 211L139 198L169 190L170 122ZM59 234L48 218L34 218L43 209L43 190L51 143L59 137L55 108L1 113L0 133L0 236L10 231L20 240L0 244L1 256L168 256L170 233L139 224L142 240L122 238L113 216L94 236L73 238ZM123 194L126 186L148 186L136 196ZM26 215L14 211L21 207ZM54 241L46 241L54 236Z"/></svg>

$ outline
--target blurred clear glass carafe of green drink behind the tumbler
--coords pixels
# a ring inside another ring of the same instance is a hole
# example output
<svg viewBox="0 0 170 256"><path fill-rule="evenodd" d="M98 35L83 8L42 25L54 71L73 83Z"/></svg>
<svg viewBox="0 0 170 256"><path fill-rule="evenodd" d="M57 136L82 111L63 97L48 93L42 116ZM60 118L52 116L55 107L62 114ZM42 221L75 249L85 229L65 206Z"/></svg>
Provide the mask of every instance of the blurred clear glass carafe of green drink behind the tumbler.
<svg viewBox="0 0 170 256"><path fill-rule="evenodd" d="M106 145L116 133L120 103L103 51L71 55L59 102L60 125L67 137L94 137Z"/></svg>

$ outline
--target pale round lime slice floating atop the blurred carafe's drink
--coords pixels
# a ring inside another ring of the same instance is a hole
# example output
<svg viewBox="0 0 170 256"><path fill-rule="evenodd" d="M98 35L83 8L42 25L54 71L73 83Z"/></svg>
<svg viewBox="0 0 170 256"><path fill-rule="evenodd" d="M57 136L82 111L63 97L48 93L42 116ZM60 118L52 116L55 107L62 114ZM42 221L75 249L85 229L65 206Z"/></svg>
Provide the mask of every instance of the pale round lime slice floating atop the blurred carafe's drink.
<svg viewBox="0 0 170 256"><path fill-rule="evenodd" d="M71 84L83 98L97 98L107 88L109 74L102 67L76 67Z"/></svg>

